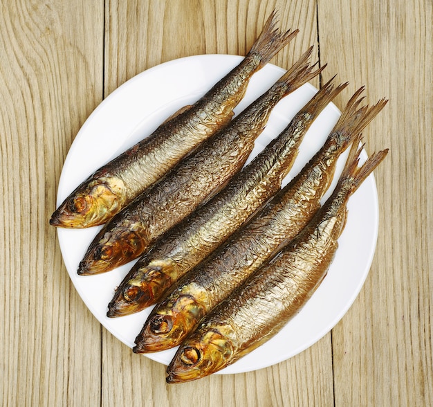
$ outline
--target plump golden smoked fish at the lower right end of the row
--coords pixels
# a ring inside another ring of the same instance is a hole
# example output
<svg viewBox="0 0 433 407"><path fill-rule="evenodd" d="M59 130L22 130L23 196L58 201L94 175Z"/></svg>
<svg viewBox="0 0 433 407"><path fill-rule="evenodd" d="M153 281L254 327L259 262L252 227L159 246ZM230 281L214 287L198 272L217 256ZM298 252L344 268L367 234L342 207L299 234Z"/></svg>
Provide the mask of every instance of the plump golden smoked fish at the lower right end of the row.
<svg viewBox="0 0 433 407"><path fill-rule="evenodd" d="M351 149L337 187L300 234L203 317L169 363L167 383L225 368L275 336L304 307L333 261L349 197L388 152L359 167L360 151Z"/></svg>

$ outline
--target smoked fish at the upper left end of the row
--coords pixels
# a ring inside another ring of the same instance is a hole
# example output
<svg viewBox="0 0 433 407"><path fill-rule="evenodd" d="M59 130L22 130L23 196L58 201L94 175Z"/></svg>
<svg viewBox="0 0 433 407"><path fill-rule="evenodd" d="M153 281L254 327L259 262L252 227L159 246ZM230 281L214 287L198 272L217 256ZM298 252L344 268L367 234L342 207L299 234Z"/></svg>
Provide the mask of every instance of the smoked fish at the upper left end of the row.
<svg viewBox="0 0 433 407"><path fill-rule="evenodd" d="M80 183L53 212L50 224L89 228L107 223L183 157L228 125L252 75L299 32L282 33L276 29L276 15L274 11L268 17L261 34L238 66L194 105L180 109L147 138Z"/></svg>

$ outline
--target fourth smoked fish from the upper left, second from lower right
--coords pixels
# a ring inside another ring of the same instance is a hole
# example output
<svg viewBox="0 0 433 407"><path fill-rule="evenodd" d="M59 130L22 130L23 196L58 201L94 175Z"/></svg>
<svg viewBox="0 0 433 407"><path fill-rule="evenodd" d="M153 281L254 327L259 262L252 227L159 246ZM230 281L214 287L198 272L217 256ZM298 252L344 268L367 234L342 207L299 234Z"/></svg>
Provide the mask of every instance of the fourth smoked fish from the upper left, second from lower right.
<svg viewBox="0 0 433 407"><path fill-rule="evenodd" d="M174 284L151 311L133 352L157 352L180 345L210 309L226 298L311 220L331 185L337 160L386 105L368 109L358 89L323 147L255 219Z"/></svg>

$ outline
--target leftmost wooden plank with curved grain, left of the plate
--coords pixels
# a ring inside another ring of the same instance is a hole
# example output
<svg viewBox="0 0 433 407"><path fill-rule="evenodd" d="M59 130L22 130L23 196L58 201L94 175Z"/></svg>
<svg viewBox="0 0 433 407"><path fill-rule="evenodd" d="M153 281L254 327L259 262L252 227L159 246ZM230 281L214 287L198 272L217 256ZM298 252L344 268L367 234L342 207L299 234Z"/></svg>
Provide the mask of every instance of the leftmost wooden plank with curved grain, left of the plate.
<svg viewBox="0 0 433 407"><path fill-rule="evenodd" d="M102 98L102 1L0 6L0 404L100 403L100 326L55 228L60 170Z"/></svg>

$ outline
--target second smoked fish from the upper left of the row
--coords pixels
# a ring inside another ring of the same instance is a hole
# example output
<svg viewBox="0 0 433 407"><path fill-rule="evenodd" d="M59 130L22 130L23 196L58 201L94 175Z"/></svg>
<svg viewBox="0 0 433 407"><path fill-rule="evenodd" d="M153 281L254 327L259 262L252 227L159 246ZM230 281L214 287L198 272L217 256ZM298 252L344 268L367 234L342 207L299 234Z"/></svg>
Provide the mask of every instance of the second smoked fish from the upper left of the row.
<svg viewBox="0 0 433 407"><path fill-rule="evenodd" d="M115 215L95 236L78 267L104 273L140 257L158 237L210 199L241 170L279 100L322 71L313 47L221 132L203 142L168 174Z"/></svg>

